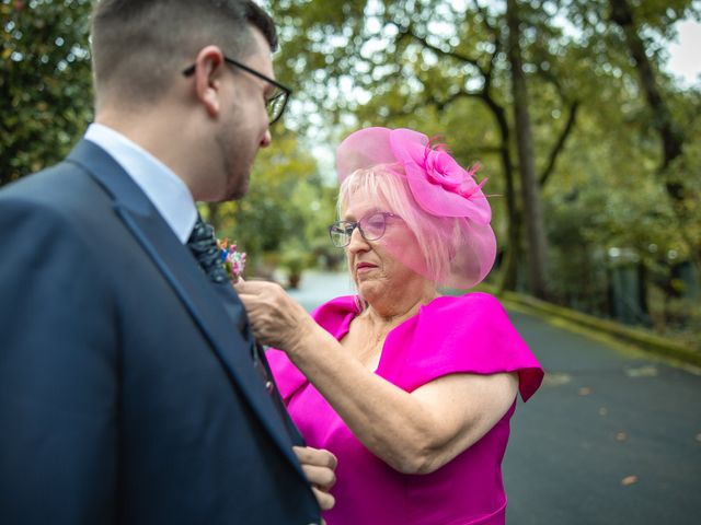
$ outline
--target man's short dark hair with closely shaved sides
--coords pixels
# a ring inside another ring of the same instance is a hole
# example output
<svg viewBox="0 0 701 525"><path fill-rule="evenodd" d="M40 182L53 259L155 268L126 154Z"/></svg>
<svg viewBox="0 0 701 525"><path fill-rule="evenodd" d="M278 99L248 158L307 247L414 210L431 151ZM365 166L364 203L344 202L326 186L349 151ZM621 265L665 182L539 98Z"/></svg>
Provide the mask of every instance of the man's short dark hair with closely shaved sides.
<svg viewBox="0 0 701 525"><path fill-rule="evenodd" d="M108 91L153 101L207 45L244 59L252 27L277 48L273 20L251 0L100 0L91 32L97 98Z"/></svg>

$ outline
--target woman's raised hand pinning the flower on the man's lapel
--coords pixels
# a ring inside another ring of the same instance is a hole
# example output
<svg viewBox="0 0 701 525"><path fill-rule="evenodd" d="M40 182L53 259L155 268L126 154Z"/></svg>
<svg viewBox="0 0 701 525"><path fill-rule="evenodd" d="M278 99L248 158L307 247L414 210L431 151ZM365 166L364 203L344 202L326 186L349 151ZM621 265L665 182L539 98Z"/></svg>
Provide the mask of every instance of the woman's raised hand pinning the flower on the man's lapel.
<svg viewBox="0 0 701 525"><path fill-rule="evenodd" d="M279 284L240 279L233 288L249 314L253 335L263 345L291 351L317 326Z"/></svg>

